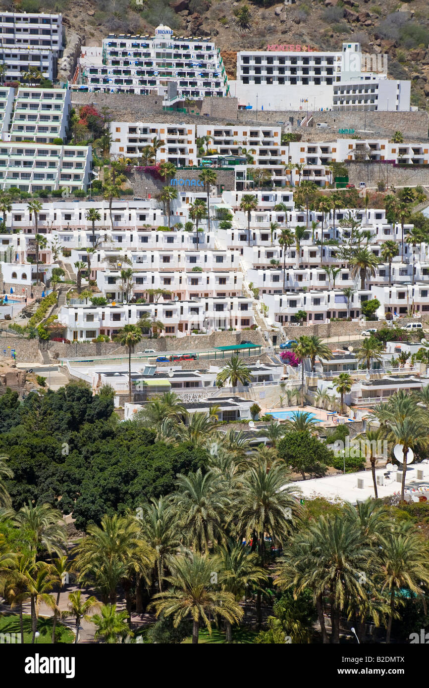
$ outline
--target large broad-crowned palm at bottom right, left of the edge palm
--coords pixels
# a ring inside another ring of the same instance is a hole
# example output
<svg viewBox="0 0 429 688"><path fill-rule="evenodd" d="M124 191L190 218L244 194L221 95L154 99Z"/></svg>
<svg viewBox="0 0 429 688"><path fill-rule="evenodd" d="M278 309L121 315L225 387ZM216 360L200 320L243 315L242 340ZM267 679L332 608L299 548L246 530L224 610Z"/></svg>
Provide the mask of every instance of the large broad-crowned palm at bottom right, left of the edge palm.
<svg viewBox="0 0 429 688"><path fill-rule="evenodd" d="M323 643L328 643L324 621L324 599L328 596L331 642L339 643L339 616L350 599L368 599L373 560L373 552L357 524L342 514L319 516L293 533L288 557L275 584L280 588L292 586L294 596L311 590Z"/></svg>

